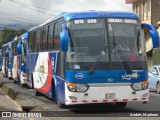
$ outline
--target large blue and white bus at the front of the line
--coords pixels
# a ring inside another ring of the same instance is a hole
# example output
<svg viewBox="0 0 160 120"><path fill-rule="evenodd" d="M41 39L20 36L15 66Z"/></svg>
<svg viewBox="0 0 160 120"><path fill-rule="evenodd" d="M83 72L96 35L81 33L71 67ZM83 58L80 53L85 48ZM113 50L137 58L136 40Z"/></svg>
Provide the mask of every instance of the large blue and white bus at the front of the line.
<svg viewBox="0 0 160 120"><path fill-rule="evenodd" d="M145 103L149 90L144 29L158 47L156 29L141 24L134 13L62 13L29 31L27 84L59 107Z"/></svg>

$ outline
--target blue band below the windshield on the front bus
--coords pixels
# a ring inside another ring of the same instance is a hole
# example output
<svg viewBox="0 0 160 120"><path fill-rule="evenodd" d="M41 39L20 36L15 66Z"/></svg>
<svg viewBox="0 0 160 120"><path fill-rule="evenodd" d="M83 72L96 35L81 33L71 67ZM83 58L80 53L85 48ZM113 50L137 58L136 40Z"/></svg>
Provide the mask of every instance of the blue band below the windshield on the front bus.
<svg viewBox="0 0 160 120"><path fill-rule="evenodd" d="M66 71L66 81L88 84L88 83L108 83L112 79L112 83L136 83L148 79L147 70L132 71L132 74L126 75L125 70L96 70L92 75L89 71Z"/></svg>

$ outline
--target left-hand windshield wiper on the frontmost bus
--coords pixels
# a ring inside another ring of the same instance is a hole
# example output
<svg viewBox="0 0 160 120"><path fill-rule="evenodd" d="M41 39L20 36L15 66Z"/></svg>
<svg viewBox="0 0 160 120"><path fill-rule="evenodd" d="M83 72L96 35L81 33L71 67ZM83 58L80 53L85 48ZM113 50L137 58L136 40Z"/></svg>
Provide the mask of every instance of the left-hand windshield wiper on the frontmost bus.
<svg viewBox="0 0 160 120"><path fill-rule="evenodd" d="M105 55L105 53L106 53L105 51L108 49L108 47L109 47L109 44L106 44L104 46L104 48L102 49L101 54L98 56L98 58L96 59L96 62L92 65L91 69L89 70L89 75L93 74L95 66L101 60L102 56Z"/></svg>

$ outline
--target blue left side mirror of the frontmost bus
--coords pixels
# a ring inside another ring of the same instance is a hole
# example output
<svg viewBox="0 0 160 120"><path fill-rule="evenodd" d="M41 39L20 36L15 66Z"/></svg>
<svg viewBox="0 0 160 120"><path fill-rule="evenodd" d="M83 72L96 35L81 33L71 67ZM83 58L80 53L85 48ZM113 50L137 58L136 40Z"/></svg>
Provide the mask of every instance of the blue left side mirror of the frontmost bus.
<svg viewBox="0 0 160 120"><path fill-rule="evenodd" d="M68 51L68 39L69 39L69 35L67 32L67 28L64 24L62 24L62 31L60 33L60 45L61 45L61 50L63 52Z"/></svg>

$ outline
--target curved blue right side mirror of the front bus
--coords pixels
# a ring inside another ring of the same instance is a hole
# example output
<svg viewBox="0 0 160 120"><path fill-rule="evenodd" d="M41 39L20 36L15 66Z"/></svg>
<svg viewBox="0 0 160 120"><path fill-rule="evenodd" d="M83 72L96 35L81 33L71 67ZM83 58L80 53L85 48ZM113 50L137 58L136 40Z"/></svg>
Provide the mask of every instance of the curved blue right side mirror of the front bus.
<svg viewBox="0 0 160 120"><path fill-rule="evenodd" d="M159 47L159 34L157 30L155 29L155 27L153 25L144 23L142 24L142 28L149 29L149 33L152 37L153 48L158 48Z"/></svg>

